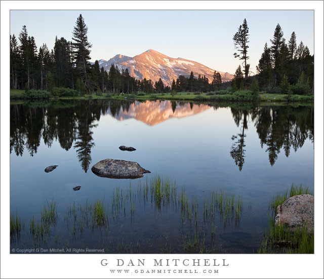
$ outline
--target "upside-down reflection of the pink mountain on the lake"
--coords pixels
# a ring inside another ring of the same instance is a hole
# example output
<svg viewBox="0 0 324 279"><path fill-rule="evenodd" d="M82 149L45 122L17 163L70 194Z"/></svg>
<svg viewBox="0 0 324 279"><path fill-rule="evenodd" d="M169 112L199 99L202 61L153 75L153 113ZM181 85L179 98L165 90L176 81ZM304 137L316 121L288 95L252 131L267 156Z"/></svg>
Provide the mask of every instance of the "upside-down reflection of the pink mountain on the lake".
<svg viewBox="0 0 324 279"><path fill-rule="evenodd" d="M210 109L204 104L194 104L177 101L135 101L130 107L120 108L116 119L121 121L134 118L147 125L153 126L171 118L182 118L195 115Z"/></svg>

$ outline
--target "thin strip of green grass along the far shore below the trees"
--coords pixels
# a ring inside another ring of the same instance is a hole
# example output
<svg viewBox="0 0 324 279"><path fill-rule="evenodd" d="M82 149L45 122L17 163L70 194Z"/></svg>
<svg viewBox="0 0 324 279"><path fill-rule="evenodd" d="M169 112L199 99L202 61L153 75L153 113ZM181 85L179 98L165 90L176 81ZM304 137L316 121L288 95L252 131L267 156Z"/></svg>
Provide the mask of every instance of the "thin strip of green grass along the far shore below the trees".
<svg viewBox="0 0 324 279"><path fill-rule="evenodd" d="M314 96L292 95L292 102L313 102ZM11 89L10 99L27 99L24 90ZM241 102L245 100L236 100L232 94L224 95L207 95L206 93L193 93L193 92L179 92L177 95L171 93L154 93L148 95L132 95L132 94L111 94L103 93L101 95L84 95L84 96L70 96L70 97L50 97L51 100L88 100L88 99L114 99L114 100L175 100L175 101L234 101ZM248 100L246 100L248 101ZM260 93L260 102L287 102L287 94L267 94Z"/></svg>

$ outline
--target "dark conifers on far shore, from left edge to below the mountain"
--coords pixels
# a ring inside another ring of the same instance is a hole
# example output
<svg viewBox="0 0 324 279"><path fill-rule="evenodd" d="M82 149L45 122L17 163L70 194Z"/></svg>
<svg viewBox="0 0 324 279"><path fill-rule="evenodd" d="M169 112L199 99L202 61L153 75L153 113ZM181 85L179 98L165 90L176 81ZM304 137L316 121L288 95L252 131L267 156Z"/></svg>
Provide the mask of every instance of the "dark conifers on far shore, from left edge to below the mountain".
<svg viewBox="0 0 324 279"><path fill-rule="evenodd" d="M24 25L18 40L15 34L10 36L11 88L49 92L56 91L55 88L70 88L81 94L139 91L155 93L172 90L171 87L164 86L161 79L155 83L146 78L135 79L130 76L127 68L120 71L117 65L112 64L107 73L103 67L100 68L98 60L91 64L92 45L88 42L87 32L88 27L80 14L72 31L72 41L56 37L54 49L49 50L46 44L37 49L34 37L28 35ZM221 84L220 75L217 78L218 83L214 82L214 87ZM195 79L191 73L190 78L179 76L173 90L207 92L211 89L210 86L208 78L199 75Z"/></svg>

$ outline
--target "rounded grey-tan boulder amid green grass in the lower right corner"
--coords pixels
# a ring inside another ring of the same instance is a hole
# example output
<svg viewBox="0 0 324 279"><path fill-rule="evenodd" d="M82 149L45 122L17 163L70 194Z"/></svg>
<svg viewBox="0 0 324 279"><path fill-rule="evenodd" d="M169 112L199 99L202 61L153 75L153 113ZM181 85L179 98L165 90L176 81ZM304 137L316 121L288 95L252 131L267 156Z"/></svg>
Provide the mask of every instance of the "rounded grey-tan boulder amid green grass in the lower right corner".
<svg viewBox="0 0 324 279"><path fill-rule="evenodd" d="M305 224L308 233L314 231L314 196L297 195L278 205L275 224L287 224L292 231Z"/></svg>

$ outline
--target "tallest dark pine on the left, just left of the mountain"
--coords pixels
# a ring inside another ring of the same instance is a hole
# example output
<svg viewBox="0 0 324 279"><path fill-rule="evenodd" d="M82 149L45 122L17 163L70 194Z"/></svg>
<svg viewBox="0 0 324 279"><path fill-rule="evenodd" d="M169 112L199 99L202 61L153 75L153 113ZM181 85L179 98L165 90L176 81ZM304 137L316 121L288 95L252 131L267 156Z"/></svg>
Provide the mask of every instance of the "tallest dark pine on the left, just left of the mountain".
<svg viewBox="0 0 324 279"><path fill-rule="evenodd" d="M90 81L88 77L89 65L88 61L91 59L90 57L90 49L92 45L88 42L88 27L85 24L84 18L82 14L76 19L75 26L73 29L73 37L72 40L74 47L74 54L76 57L76 67L78 69L80 77L82 77L87 92L90 94Z"/></svg>

